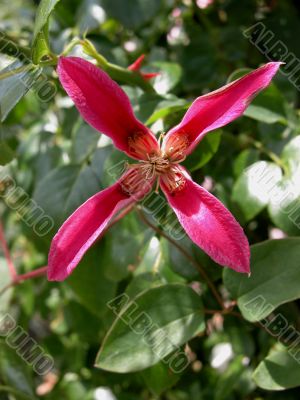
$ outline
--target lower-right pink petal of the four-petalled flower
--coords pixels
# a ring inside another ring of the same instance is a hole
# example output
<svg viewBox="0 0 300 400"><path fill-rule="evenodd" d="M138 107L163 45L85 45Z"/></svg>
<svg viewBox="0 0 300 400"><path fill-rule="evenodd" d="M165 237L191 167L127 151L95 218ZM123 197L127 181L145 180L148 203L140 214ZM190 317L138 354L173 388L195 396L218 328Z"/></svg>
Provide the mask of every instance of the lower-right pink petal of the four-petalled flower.
<svg viewBox="0 0 300 400"><path fill-rule="evenodd" d="M237 272L250 272L248 240L232 214L207 190L185 174L183 189L170 193L171 207L188 236L217 263Z"/></svg>

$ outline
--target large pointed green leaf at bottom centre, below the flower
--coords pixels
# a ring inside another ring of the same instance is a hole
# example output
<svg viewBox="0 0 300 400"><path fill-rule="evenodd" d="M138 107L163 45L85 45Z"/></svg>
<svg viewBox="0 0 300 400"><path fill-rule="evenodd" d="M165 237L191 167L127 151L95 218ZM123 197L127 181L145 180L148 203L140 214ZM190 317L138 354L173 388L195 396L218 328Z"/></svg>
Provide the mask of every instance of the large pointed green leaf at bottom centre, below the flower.
<svg viewBox="0 0 300 400"><path fill-rule="evenodd" d="M177 350L182 355L179 346L204 328L201 298L190 287L169 284L146 290L122 308L104 339L96 366L133 372L160 360L167 362L168 354ZM175 368L174 357L179 353L168 361L170 368Z"/></svg>

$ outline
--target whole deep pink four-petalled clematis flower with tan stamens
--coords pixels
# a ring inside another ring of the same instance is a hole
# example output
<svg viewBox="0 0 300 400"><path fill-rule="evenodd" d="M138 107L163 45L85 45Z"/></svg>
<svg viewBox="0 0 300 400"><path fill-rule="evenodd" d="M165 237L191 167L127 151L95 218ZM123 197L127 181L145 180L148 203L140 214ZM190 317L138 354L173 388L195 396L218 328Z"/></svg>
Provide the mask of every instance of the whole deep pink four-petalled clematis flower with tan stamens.
<svg viewBox="0 0 300 400"><path fill-rule="evenodd" d="M250 272L248 240L231 213L193 182L180 163L204 136L239 117L270 83L280 63L271 62L207 95L198 97L160 146L134 115L124 91L102 70L77 57L61 57L58 75L82 117L136 160L112 186L82 204L55 235L49 280L63 280L124 207L158 183L191 240L217 263Z"/></svg>

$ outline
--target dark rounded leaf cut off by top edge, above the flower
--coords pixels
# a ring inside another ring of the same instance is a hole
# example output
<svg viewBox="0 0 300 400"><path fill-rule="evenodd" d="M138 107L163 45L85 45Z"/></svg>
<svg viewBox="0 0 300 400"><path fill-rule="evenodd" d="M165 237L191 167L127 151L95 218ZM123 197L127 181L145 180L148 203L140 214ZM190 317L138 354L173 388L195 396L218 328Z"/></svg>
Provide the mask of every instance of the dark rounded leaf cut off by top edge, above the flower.
<svg viewBox="0 0 300 400"><path fill-rule="evenodd" d="M161 0L103 0L107 13L126 28L136 29L157 16Z"/></svg>

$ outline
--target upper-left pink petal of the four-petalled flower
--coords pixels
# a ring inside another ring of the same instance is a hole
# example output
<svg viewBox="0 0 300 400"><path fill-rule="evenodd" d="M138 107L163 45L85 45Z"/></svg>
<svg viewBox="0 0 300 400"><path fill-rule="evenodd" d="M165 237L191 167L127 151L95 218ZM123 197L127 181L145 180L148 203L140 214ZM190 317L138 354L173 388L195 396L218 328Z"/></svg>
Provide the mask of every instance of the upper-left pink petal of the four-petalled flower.
<svg viewBox="0 0 300 400"><path fill-rule="evenodd" d="M128 144L135 135L145 136L154 150L158 148L154 135L134 116L125 92L104 71L79 57L60 57L57 72L82 117L117 148L140 158Z"/></svg>

